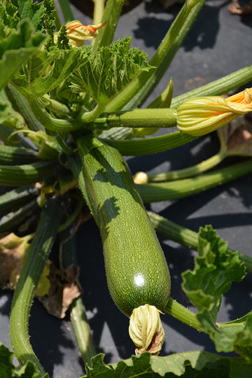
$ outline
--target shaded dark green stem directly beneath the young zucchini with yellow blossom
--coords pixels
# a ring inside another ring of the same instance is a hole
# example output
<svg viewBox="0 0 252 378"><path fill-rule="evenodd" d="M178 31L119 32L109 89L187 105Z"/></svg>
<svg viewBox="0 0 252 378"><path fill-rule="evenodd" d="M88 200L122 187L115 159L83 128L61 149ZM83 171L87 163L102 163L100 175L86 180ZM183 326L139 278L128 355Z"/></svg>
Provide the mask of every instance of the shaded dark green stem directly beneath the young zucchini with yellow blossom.
<svg viewBox="0 0 252 378"><path fill-rule="evenodd" d="M106 144L117 148L124 156L140 156L150 155L152 153L160 153L182 146L196 139L189 134L182 132L172 132L161 137L152 137L147 139L133 139L133 140L113 140L104 139Z"/></svg>

